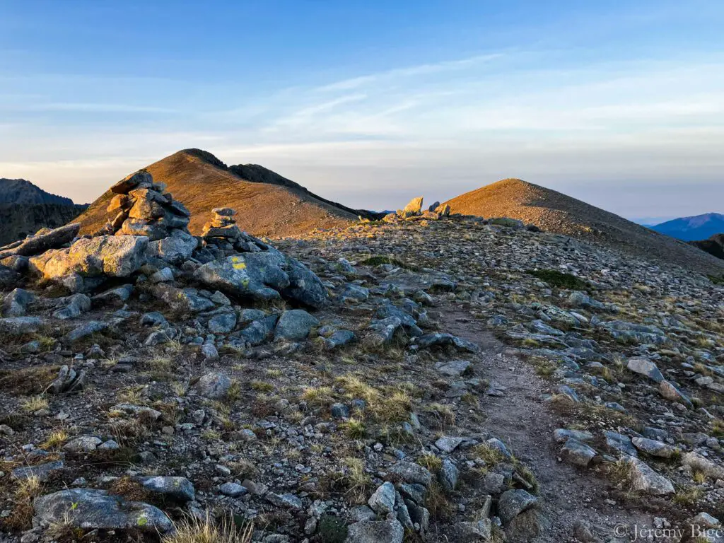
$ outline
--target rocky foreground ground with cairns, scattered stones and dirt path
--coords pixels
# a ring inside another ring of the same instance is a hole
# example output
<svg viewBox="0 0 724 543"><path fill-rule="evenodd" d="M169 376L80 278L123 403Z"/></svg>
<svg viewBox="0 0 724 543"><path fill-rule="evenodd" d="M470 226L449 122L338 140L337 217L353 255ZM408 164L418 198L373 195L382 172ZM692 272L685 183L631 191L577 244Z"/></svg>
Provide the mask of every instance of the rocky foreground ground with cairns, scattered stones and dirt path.
<svg viewBox="0 0 724 543"><path fill-rule="evenodd" d="M1 542L722 540L718 277L421 197L272 242L110 193L0 248Z"/></svg>

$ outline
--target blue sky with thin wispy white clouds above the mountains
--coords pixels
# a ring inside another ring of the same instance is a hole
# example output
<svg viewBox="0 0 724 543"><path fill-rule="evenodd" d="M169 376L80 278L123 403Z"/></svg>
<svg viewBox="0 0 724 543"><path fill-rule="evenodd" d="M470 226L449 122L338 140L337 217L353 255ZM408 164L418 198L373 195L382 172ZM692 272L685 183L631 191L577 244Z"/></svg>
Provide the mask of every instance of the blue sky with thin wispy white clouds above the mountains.
<svg viewBox="0 0 724 543"><path fill-rule="evenodd" d="M720 1L0 0L0 177L75 201L181 148L390 209L521 177L724 211Z"/></svg>

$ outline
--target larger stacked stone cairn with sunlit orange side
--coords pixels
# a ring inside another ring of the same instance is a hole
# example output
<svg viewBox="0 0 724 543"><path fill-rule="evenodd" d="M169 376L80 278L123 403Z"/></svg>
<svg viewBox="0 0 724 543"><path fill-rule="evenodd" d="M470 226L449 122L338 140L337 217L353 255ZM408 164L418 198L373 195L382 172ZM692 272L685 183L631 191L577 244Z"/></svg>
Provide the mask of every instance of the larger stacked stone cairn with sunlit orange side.
<svg viewBox="0 0 724 543"><path fill-rule="evenodd" d="M106 209L112 218L97 235L143 235L153 241L169 237L174 230L188 233L190 211L164 190L164 183L153 182L143 170L117 182Z"/></svg>

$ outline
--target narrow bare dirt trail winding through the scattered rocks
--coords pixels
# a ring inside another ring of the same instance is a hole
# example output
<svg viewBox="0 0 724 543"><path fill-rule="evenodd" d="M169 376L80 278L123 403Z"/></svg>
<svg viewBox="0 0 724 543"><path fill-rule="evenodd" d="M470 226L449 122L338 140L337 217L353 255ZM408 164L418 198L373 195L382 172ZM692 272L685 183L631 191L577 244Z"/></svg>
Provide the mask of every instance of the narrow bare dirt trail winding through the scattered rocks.
<svg viewBox="0 0 724 543"><path fill-rule="evenodd" d="M491 384L505 388L502 397L486 395L481 406L487 411L487 429L534 471L540 483L547 526L535 541L578 541L573 536L576 521L594 524L600 535L608 535L605 541L619 523L650 524L650 516L607 503L607 482L597 478L594 472L557 461L560 446L553 442L552 433L563 423L542 401L542 394L550 389L550 383L513 355L484 324L458 309L449 306L440 309L443 329L481 348L476 373Z"/></svg>

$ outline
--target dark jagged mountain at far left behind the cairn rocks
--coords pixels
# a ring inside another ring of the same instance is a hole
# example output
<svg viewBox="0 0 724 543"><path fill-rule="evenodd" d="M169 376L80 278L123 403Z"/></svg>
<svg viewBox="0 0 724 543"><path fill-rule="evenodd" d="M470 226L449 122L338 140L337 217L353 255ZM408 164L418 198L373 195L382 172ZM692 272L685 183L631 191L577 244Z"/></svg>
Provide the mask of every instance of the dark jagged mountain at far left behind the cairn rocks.
<svg viewBox="0 0 724 543"><path fill-rule="evenodd" d="M0 178L0 245L72 221L87 206L24 179Z"/></svg>

